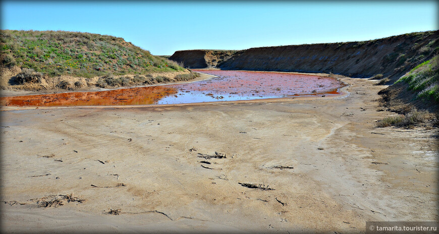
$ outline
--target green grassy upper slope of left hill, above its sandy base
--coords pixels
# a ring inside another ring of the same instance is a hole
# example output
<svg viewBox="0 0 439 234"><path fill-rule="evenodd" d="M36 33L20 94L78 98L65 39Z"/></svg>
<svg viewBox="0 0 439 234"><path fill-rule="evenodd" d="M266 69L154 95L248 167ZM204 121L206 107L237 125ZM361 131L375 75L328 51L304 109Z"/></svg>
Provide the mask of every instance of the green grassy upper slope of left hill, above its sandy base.
<svg viewBox="0 0 439 234"><path fill-rule="evenodd" d="M65 31L0 30L3 66L32 68L48 76L80 77L183 71L123 38Z"/></svg>

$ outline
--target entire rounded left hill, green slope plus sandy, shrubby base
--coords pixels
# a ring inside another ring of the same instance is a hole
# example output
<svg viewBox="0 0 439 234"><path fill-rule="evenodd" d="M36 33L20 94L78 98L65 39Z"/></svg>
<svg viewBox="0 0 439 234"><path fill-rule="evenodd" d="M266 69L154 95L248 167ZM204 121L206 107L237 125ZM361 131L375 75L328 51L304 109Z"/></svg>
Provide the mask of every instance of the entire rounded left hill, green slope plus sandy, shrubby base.
<svg viewBox="0 0 439 234"><path fill-rule="evenodd" d="M123 38L65 31L0 31L2 89L76 89L190 80L197 74Z"/></svg>

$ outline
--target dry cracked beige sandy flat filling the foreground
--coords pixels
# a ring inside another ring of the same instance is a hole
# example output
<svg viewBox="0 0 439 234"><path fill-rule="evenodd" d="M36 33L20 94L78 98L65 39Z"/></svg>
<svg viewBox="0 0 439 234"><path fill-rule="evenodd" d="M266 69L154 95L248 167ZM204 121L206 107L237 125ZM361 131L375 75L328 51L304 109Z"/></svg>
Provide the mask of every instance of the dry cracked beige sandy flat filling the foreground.
<svg viewBox="0 0 439 234"><path fill-rule="evenodd" d="M1 230L352 233L437 220L437 129L376 128L395 115L377 112L383 87L341 80L337 98L3 108ZM198 157L215 151L227 158ZM72 193L85 201L36 204Z"/></svg>

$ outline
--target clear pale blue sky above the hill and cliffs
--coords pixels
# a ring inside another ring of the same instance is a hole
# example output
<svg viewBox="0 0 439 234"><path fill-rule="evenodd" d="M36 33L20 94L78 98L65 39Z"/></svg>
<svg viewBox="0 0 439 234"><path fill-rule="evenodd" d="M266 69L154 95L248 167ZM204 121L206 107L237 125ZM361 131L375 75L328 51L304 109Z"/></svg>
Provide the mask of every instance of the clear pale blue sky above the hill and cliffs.
<svg viewBox="0 0 439 234"><path fill-rule="evenodd" d="M436 1L9 2L2 29L123 37L154 55L344 42L438 29Z"/></svg>

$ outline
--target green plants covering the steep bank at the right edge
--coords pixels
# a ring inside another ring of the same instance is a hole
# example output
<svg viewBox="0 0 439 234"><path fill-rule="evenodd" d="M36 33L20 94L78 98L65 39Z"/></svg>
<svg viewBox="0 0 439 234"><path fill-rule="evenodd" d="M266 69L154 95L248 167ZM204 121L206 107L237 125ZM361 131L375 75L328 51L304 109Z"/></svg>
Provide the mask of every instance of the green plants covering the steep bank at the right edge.
<svg viewBox="0 0 439 234"><path fill-rule="evenodd" d="M414 67L395 84L405 82L418 98L439 101L439 55Z"/></svg>

